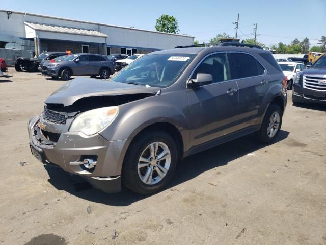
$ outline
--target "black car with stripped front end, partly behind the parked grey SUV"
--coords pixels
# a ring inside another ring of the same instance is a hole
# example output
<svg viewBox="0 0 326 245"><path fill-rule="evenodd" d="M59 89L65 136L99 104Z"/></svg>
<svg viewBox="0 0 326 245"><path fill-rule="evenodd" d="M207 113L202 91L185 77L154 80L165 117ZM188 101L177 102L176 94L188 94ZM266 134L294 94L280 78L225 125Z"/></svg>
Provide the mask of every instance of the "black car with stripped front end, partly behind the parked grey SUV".
<svg viewBox="0 0 326 245"><path fill-rule="evenodd" d="M45 52L36 58L19 57L15 62L16 71L26 70L28 72L37 72L42 60L52 60L58 56L68 55L66 52Z"/></svg>

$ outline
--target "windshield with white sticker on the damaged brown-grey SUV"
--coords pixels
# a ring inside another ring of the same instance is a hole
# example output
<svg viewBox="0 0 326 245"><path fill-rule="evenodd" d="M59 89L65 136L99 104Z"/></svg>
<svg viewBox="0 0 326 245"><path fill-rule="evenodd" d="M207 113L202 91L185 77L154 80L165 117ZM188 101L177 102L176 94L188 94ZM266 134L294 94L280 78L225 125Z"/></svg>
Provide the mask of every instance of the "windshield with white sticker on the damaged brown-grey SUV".
<svg viewBox="0 0 326 245"><path fill-rule="evenodd" d="M152 87L173 84L195 54L145 55L114 75L110 81Z"/></svg>

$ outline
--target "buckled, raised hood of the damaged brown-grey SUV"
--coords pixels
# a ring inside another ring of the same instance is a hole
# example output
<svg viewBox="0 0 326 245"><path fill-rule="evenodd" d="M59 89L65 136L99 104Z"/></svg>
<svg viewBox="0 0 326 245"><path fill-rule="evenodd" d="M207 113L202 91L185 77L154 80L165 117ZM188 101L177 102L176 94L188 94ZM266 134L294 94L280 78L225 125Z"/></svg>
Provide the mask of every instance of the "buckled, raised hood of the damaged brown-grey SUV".
<svg viewBox="0 0 326 245"><path fill-rule="evenodd" d="M128 83L111 82L93 78L75 78L68 81L54 93L46 104L63 104L70 106L75 101L92 96L116 96L128 94L156 94L160 88L145 87Z"/></svg>

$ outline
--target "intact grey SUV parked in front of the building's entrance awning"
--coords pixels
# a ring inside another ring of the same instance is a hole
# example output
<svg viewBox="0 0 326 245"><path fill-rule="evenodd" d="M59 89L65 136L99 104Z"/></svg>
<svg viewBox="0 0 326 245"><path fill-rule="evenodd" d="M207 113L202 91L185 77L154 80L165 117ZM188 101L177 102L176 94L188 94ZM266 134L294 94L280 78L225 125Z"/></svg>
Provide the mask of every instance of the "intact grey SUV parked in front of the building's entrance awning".
<svg viewBox="0 0 326 245"><path fill-rule="evenodd" d="M61 62L43 65L42 74L52 78L69 80L71 76L86 76L92 78L100 76L107 79L114 74L114 64L104 55L97 54L73 54L67 56Z"/></svg>

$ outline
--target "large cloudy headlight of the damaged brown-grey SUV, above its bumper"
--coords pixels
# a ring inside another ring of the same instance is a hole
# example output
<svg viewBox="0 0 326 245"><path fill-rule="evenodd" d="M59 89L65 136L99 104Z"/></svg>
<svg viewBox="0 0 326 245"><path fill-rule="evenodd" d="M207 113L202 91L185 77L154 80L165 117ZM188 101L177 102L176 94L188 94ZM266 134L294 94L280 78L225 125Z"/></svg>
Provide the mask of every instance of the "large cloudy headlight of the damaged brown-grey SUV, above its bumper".
<svg viewBox="0 0 326 245"><path fill-rule="evenodd" d="M82 132L93 135L113 122L118 115L117 106L102 107L79 114L72 122L70 132Z"/></svg>

